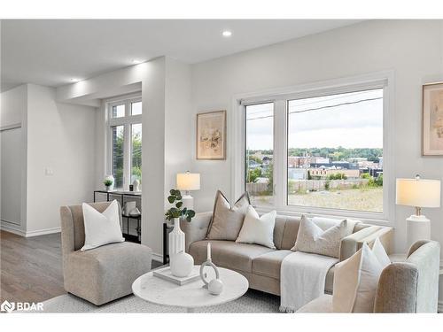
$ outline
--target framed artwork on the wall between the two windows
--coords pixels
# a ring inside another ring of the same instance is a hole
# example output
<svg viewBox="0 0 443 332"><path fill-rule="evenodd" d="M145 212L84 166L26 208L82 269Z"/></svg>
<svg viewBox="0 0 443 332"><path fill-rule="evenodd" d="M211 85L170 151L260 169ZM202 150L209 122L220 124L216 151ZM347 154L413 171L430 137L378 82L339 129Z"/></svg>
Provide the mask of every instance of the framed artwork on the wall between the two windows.
<svg viewBox="0 0 443 332"><path fill-rule="evenodd" d="M226 159L226 111L197 114L196 158Z"/></svg>

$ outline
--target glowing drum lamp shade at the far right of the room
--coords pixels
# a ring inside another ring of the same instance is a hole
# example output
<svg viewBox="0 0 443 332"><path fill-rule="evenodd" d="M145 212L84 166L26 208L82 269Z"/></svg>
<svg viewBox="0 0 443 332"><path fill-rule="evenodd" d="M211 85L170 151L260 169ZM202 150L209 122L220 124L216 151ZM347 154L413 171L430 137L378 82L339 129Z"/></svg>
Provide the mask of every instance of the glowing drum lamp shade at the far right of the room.
<svg viewBox="0 0 443 332"><path fill-rule="evenodd" d="M440 206L440 181L397 179L395 202L416 207Z"/></svg>

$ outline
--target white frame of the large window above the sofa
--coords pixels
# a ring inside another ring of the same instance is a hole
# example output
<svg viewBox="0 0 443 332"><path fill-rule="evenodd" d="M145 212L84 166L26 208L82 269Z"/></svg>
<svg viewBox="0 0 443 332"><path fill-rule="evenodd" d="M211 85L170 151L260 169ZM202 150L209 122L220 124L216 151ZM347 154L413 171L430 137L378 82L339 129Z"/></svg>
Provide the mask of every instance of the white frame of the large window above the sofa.
<svg viewBox="0 0 443 332"><path fill-rule="evenodd" d="M233 135L230 140L233 153L231 169L233 171L231 196L233 199L241 195L245 189L245 106L249 104L264 104L274 102L274 205L257 206L257 211L268 212L276 210L286 215L315 215L329 217L351 217L365 222L393 225L395 218L395 179L394 160L392 156L394 130L394 81L393 72L384 71L369 73L361 76L342 78L338 80L320 81L283 89L272 89L246 95L237 95L232 99L231 117ZM321 97L364 89L384 89L383 99L383 212L362 212L322 208L315 206L300 206L287 204L287 103L292 99ZM284 133L284 135L276 134Z"/></svg>

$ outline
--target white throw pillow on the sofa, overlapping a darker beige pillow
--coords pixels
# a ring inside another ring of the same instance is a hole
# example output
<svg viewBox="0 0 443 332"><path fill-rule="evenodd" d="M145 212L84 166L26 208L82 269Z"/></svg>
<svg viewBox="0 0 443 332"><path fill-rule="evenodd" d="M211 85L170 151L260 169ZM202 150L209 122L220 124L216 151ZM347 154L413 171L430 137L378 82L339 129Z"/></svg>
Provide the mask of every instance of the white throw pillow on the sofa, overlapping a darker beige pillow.
<svg viewBox="0 0 443 332"><path fill-rule="evenodd" d="M274 244L274 226L276 226L276 211L268 212L260 217L253 205L249 205L243 227L236 242L255 243L276 249Z"/></svg>

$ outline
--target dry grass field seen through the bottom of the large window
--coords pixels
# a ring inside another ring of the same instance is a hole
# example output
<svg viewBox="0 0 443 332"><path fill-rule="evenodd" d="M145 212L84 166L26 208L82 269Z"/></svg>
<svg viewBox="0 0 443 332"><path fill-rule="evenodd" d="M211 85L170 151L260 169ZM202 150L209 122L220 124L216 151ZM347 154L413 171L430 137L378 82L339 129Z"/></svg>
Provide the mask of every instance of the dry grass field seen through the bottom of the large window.
<svg viewBox="0 0 443 332"><path fill-rule="evenodd" d="M252 197L254 204L269 205L272 197ZM333 209L383 212L383 188L337 189L313 191L288 197L289 205L328 207Z"/></svg>

